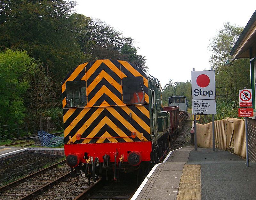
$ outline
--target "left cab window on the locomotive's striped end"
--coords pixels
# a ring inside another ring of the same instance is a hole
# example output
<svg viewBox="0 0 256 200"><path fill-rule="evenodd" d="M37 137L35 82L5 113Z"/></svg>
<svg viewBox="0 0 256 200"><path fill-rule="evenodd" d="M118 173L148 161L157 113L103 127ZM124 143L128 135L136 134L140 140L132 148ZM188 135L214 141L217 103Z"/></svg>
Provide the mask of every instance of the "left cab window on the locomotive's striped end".
<svg viewBox="0 0 256 200"><path fill-rule="evenodd" d="M66 101L69 108L84 107L87 105L85 81L67 81L66 92Z"/></svg>

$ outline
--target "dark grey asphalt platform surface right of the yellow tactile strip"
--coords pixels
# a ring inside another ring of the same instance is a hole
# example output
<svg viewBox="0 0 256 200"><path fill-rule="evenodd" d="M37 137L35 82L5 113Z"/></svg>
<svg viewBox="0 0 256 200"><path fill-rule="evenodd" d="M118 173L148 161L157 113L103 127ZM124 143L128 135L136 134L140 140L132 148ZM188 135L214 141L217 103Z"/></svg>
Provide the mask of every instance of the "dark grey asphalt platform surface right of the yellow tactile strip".
<svg viewBox="0 0 256 200"><path fill-rule="evenodd" d="M187 164L201 165L202 200L256 199L256 163L228 151L198 148Z"/></svg>

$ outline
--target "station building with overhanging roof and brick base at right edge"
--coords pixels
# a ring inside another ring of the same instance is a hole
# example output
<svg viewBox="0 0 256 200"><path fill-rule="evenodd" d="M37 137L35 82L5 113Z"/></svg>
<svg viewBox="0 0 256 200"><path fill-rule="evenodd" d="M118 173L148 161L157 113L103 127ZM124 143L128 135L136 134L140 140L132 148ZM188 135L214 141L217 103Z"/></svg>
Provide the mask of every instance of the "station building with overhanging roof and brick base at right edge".
<svg viewBox="0 0 256 200"><path fill-rule="evenodd" d="M232 48L234 59L250 58L253 117L248 117L249 159L256 161L256 11ZM242 88L241 88L242 89Z"/></svg>

